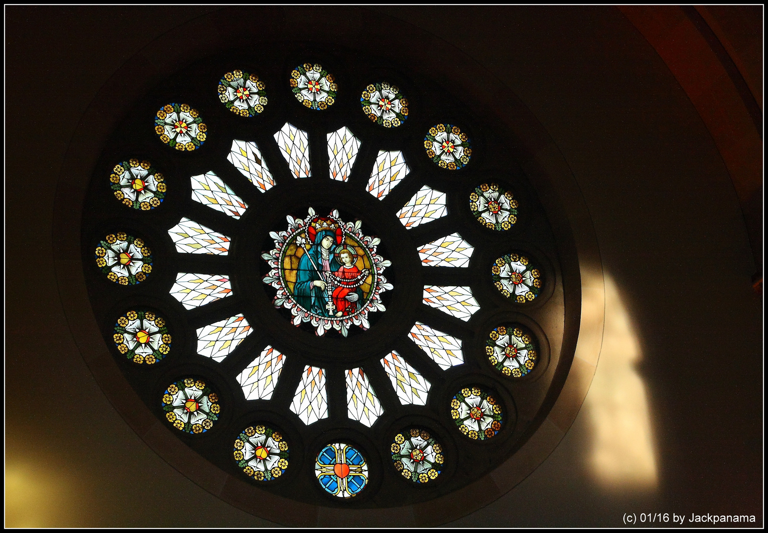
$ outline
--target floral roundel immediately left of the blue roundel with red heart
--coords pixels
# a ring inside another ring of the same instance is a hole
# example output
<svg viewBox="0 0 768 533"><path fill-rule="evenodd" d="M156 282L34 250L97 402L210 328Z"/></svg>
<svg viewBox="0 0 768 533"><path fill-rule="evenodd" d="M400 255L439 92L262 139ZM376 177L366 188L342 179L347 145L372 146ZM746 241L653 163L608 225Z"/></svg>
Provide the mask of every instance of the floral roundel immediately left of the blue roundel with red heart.
<svg viewBox="0 0 768 533"><path fill-rule="evenodd" d="M270 482L288 468L290 450L282 433L267 425L250 425L237 435L232 456L249 478Z"/></svg>

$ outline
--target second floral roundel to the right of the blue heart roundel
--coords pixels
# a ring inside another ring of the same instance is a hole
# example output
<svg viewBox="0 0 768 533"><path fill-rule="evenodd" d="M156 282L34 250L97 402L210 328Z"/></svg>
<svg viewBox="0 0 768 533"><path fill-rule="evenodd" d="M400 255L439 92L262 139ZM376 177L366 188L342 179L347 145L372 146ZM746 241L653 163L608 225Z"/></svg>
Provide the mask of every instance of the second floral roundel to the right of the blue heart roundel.
<svg viewBox="0 0 768 533"><path fill-rule="evenodd" d="M502 429L502 406L479 387L456 392L451 400L451 416L458 430L470 439L491 439Z"/></svg>

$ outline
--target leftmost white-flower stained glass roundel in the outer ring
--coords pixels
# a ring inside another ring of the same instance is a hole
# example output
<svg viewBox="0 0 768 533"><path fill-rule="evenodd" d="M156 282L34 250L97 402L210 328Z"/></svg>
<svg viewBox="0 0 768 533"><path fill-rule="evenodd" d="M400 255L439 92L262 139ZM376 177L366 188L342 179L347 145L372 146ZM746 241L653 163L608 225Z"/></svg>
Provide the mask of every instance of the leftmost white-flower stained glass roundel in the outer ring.
<svg viewBox="0 0 768 533"><path fill-rule="evenodd" d="M152 252L133 235L110 233L96 247L96 266L114 283L136 285L152 271Z"/></svg>

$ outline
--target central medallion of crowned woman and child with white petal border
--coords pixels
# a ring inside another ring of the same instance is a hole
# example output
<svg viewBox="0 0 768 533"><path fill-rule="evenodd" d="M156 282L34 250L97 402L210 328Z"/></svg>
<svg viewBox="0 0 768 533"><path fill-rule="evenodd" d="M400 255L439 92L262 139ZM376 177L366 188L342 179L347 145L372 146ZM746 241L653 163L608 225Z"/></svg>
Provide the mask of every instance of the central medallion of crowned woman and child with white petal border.
<svg viewBox="0 0 768 533"><path fill-rule="evenodd" d="M362 222L343 222L339 211L305 219L288 215L288 229L272 232L275 248L263 254L272 270L264 283L277 289L276 307L290 309L293 324L311 323L317 335L370 327L368 313L385 311L380 294L391 290L382 273L388 260L376 253L378 237L363 235Z"/></svg>

